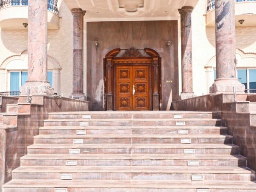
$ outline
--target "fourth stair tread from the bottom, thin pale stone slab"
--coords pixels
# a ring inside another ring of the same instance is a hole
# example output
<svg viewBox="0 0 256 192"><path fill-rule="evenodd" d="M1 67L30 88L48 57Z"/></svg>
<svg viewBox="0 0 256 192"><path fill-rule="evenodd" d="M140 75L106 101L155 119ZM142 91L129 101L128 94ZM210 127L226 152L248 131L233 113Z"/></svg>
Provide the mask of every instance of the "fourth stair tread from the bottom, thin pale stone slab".
<svg viewBox="0 0 256 192"><path fill-rule="evenodd" d="M239 148L233 144L33 144L28 148Z"/></svg>

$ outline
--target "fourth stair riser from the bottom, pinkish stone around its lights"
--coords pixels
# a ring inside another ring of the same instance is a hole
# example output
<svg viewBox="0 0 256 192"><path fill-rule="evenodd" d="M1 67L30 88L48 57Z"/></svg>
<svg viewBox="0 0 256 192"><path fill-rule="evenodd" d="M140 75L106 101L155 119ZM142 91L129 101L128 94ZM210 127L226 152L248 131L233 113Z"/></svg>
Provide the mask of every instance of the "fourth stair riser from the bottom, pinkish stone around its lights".
<svg viewBox="0 0 256 192"><path fill-rule="evenodd" d="M104 145L102 145L104 146ZM79 148L81 154L184 154L182 148ZM190 148L188 148L190 149ZM28 154L69 154L67 148L28 149ZM239 149L195 149L195 154L231 154L238 155Z"/></svg>

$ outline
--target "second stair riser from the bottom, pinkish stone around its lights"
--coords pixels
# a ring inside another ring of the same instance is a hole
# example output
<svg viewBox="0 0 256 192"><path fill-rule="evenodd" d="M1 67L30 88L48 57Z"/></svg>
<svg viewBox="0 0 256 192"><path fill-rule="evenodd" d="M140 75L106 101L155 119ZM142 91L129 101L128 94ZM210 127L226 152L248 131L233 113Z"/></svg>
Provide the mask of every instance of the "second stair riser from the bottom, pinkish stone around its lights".
<svg viewBox="0 0 256 192"><path fill-rule="evenodd" d="M192 173L73 173L76 179L108 180L191 180ZM254 181L253 174L204 173L204 181ZM61 173L13 173L13 179L60 179Z"/></svg>

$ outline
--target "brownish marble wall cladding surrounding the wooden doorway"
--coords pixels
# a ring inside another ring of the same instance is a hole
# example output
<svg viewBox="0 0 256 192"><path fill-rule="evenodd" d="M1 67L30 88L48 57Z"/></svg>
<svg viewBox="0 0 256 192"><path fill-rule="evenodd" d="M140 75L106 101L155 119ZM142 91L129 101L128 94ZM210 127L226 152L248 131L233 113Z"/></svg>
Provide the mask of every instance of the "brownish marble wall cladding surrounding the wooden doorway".
<svg viewBox="0 0 256 192"><path fill-rule="evenodd" d="M179 96L177 21L87 22L87 97L104 110L103 58L115 48L151 48L162 58L162 110ZM166 45L170 40L171 46ZM96 49L95 41L99 45Z"/></svg>

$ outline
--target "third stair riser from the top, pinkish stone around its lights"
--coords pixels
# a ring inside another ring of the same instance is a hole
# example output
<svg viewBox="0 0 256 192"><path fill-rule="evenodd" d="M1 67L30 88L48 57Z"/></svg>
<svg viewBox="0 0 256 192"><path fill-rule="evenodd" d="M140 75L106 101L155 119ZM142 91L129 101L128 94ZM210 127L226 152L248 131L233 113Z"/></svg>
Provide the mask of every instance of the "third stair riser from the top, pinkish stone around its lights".
<svg viewBox="0 0 256 192"><path fill-rule="evenodd" d="M174 135L178 129L86 129L87 135ZM76 135L76 129L40 129L42 135ZM226 135L227 129L188 129L188 135Z"/></svg>

